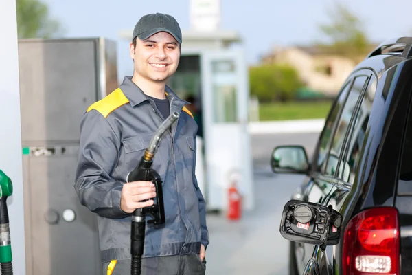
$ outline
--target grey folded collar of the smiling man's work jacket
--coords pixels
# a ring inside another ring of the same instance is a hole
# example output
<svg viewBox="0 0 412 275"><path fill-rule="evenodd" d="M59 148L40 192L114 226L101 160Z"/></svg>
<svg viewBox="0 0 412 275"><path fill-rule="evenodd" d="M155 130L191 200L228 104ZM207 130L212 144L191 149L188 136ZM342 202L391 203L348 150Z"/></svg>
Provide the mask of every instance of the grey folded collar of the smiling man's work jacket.
<svg viewBox="0 0 412 275"><path fill-rule="evenodd" d="M144 91L142 91L133 81L131 76L125 76L123 83L120 85L120 89L123 91L124 96L129 100L130 105L135 107L136 105L140 104L141 102L144 102L145 100L148 100L148 96L144 94ZM170 87L166 86L165 87L165 93L168 96L169 101L171 102L172 98L174 98L174 101L180 101L183 103L183 105L190 104L190 102L187 102L185 100L181 100L179 96L174 94L174 91L170 89Z"/></svg>

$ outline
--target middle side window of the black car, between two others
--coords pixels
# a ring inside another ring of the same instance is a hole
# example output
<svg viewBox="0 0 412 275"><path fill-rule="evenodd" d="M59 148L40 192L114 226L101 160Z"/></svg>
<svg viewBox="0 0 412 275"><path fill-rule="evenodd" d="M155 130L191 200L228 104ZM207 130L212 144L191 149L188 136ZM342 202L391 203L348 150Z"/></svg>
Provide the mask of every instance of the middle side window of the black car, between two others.
<svg viewBox="0 0 412 275"><path fill-rule="evenodd" d="M350 93L347 96L345 106L343 107L341 117L336 125L336 131L334 132L334 137L332 138L332 144L330 146L328 162L325 168L326 175L334 175L336 168L338 167L339 157L343 148L343 141L345 140L345 135L347 129L349 128L350 120L354 111L356 109L356 104L358 102L359 96L363 91L363 87L367 81L367 76L358 76L355 78L354 85L350 89ZM345 168L342 164L341 168Z"/></svg>

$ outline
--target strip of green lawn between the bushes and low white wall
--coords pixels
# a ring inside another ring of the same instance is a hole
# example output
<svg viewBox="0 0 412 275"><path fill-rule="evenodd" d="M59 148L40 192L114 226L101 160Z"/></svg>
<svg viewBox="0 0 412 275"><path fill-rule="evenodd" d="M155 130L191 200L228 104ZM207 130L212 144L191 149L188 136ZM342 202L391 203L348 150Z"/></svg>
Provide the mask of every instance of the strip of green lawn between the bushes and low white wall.
<svg viewBox="0 0 412 275"><path fill-rule="evenodd" d="M303 120L326 118L332 101L259 104L259 120Z"/></svg>

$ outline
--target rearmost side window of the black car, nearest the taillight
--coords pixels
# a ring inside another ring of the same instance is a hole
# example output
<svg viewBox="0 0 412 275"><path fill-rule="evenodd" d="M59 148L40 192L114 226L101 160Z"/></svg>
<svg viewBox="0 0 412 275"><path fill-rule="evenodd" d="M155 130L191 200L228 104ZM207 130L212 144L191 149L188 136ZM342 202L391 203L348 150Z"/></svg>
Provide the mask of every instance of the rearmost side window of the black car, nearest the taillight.
<svg viewBox="0 0 412 275"><path fill-rule="evenodd" d="M343 170L347 170L347 175L341 175L341 177L344 181L347 181L350 184L354 183L355 172L358 169L359 159L364 149L363 142L365 141L367 124L369 122L369 115L372 111L375 92L376 78L372 77L371 80L369 80L367 90L363 96L361 107L353 126L350 142L348 142L349 146L347 147L347 153L345 153L346 167L343 168Z"/></svg>

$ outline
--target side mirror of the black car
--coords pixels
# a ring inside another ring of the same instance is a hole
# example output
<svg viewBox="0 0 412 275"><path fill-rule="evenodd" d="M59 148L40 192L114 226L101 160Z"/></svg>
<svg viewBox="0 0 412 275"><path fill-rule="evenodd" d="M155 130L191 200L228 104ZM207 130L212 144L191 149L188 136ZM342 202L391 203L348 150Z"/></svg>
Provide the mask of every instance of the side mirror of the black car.
<svg viewBox="0 0 412 275"><path fill-rule="evenodd" d="M274 173L306 173L308 156L302 146L277 146L271 155Z"/></svg>

